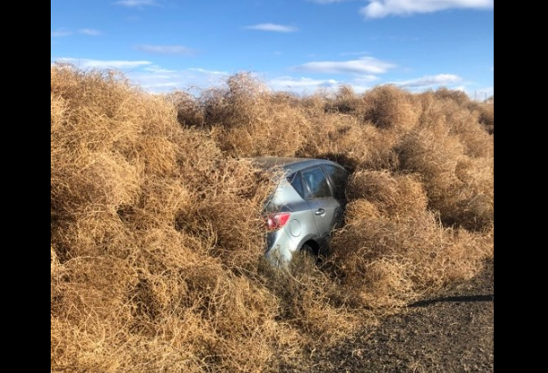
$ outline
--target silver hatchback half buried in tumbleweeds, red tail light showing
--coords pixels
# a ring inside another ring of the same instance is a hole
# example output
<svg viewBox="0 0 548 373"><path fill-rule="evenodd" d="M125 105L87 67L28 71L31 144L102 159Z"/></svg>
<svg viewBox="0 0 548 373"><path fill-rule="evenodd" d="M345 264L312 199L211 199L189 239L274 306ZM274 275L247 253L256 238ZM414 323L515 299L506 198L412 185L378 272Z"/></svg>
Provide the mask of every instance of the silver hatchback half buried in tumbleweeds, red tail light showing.
<svg viewBox="0 0 548 373"><path fill-rule="evenodd" d="M265 257L276 266L295 252L316 258L329 249L335 228L342 225L349 172L327 159L253 158L276 177L274 193L264 203Z"/></svg>

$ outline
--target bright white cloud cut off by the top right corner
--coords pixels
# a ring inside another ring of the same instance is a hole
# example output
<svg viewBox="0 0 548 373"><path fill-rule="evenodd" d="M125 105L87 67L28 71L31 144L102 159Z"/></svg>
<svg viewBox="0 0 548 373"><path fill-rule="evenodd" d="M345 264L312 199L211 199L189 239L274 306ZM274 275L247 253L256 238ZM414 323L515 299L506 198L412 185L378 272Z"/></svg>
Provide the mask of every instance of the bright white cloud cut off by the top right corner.
<svg viewBox="0 0 548 373"><path fill-rule="evenodd" d="M433 13L447 9L494 9L495 0L368 0L360 13L367 18Z"/></svg>

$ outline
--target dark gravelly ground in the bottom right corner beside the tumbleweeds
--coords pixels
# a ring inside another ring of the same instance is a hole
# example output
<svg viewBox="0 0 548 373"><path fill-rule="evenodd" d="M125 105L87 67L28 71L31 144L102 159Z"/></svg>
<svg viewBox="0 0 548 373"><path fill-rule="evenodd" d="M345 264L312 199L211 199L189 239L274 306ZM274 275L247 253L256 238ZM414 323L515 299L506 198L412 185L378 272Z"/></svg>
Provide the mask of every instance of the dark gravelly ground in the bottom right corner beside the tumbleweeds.
<svg viewBox="0 0 548 373"><path fill-rule="evenodd" d="M469 282L389 316L334 349L313 351L307 367L284 372L492 372L495 263Z"/></svg>

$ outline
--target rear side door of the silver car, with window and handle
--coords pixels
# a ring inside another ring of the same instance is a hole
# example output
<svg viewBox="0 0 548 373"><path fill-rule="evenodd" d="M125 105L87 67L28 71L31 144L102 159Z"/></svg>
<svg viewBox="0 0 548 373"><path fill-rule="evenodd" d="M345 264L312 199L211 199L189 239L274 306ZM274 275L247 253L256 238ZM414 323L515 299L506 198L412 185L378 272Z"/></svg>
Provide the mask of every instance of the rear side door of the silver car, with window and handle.
<svg viewBox="0 0 548 373"><path fill-rule="evenodd" d="M306 200L321 237L320 244L326 244L340 214L341 202L332 196L332 189L322 166L307 168L301 173L306 188Z"/></svg>

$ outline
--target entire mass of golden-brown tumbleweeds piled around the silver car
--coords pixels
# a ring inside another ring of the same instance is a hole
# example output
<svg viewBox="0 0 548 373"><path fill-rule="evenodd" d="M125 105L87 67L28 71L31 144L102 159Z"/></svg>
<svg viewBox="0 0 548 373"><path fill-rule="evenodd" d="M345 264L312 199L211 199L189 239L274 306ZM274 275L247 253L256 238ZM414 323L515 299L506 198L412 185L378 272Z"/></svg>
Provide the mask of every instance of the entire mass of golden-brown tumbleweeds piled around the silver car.
<svg viewBox="0 0 548 373"><path fill-rule="evenodd" d="M51 370L269 372L494 256L486 113L450 91L194 98L51 69ZM256 155L355 171L322 268L262 262Z"/></svg>

